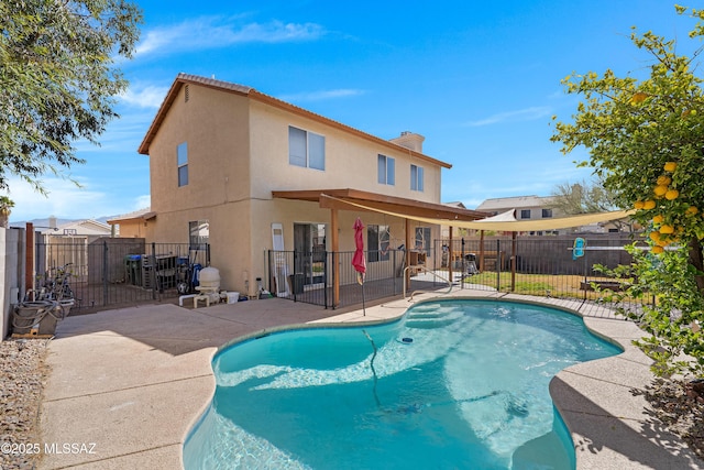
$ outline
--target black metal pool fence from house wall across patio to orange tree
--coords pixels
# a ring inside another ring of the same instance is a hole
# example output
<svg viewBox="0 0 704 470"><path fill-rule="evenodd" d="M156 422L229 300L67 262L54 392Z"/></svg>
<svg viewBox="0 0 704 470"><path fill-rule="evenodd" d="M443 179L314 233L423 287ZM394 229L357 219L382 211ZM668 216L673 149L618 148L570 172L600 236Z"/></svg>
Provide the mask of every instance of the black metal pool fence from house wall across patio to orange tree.
<svg viewBox="0 0 704 470"><path fill-rule="evenodd" d="M432 256L426 258L433 260L432 265L413 261L417 256L411 255L411 277L406 289L437 289L452 282L463 288L480 291L609 302L608 292L625 288L624 281L608 278L594 266L601 264L613 269L630 264L632 258L625 247L634 239L620 234L582 236L575 250L576 238L550 236L513 240L510 237L492 237L481 240L468 237L452 242L436 240L432 252L428 253ZM337 306L360 304L363 297L373 300L403 294L405 251L366 251L363 285L358 282L352 266L353 254L270 251L268 289L278 297L332 307L333 276L339 273ZM420 260L424 258L421 255ZM338 270L332 269L336 263ZM416 263L420 265L417 269L414 267ZM626 300L632 304L632 308L640 306L640 300Z"/></svg>

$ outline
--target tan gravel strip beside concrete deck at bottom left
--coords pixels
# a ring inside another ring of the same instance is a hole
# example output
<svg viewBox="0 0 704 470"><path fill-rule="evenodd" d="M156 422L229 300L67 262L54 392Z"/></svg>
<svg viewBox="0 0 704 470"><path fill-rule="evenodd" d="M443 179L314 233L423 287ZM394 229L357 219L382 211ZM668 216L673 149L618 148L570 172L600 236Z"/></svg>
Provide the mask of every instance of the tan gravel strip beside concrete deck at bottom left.
<svg viewBox="0 0 704 470"><path fill-rule="evenodd" d="M40 403L48 370L46 339L0 342L0 469L33 469L41 457Z"/></svg>

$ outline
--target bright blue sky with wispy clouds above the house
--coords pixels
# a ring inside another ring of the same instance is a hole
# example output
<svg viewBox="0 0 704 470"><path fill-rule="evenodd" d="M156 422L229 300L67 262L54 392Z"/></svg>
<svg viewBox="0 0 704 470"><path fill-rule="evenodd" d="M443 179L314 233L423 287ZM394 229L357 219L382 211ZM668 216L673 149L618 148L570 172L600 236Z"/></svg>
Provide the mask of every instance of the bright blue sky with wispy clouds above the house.
<svg viewBox="0 0 704 470"><path fill-rule="evenodd" d="M693 41L668 0L139 1L145 23L121 118L76 144L85 165L46 175L48 198L11 178L11 221L128 214L150 204L148 157L136 149L179 72L253 87L382 139L425 135L424 153L452 164L442 201L548 196L590 179L549 141L578 97L560 80L612 68L642 74L630 28ZM686 44L686 45L685 45Z"/></svg>

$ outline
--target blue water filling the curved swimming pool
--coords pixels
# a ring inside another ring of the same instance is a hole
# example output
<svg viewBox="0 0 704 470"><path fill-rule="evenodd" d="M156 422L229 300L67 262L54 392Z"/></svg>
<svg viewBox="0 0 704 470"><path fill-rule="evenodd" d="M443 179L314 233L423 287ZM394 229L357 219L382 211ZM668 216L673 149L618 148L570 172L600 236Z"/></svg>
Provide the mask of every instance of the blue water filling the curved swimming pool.
<svg viewBox="0 0 704 470"><path fill-rule="evenodd" d="M418 304L383 326L235 343L184 445L195 469L573 469L548 392L620 352L581 318L493 300Z"/></svg>

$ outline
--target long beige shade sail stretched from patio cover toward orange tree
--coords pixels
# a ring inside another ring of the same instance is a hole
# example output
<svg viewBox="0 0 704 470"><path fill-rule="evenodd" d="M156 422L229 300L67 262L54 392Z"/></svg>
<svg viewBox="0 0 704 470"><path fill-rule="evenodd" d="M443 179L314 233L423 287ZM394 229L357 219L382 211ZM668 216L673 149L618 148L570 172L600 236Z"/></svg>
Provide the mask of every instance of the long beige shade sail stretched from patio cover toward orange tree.
<svg viewBox="0 0 704 470"><path fill-rule="evenodd" d="M491 220L492 218L490 217L483 220L466 222L461 220L432 219L427 217L409 216L402 212L376 209L374 207L369 207L362 204L352 203L350 200L338 199L336 197L328 196L326 194L321 194L320 197L330 198L340 203L344 203L351 207L356 207L359 209L369 210L372 212L386 214L388 216L400 217L404 219L417 220L419 222L435 223L435 225L439 223L439 225L446 225L446 226L452 226L452 227L459 227L459 228L472 229L472 230L494 230L494 231L505 231L505 232L566 229L570 227L581 227L581 226L588 226L590 223L624 219L634 214L632 210L615 210L610 212L582 214L579 216L560 217L554 219L492 221Z"/></svg>

